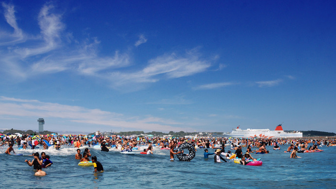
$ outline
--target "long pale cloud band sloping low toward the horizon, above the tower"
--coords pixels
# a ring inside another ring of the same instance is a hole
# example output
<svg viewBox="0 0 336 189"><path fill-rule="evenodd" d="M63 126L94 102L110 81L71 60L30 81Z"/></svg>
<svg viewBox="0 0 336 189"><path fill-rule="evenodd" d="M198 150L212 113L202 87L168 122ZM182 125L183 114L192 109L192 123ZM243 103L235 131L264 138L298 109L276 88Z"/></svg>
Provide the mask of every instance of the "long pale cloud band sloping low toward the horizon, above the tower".
<svg viewBox="0 0 336 189"><path fill-rule="evenodd" d="M25 100L0 97L0 120L2 117L32 117L39 115L45 119L57 118L74 123L111 126L115 129L128 128L148 131L181 131L180 122L147 116L144 118L127 117L123 114L88 109L59 103L45 103L37 100ZM175 125L175 126L173 126ZM81 127L80 124L77 125ZM69 128L70 129L70 128ZM74 128L71 128L74 129ZM189 128L190 129L190 128Z"/></svg>

